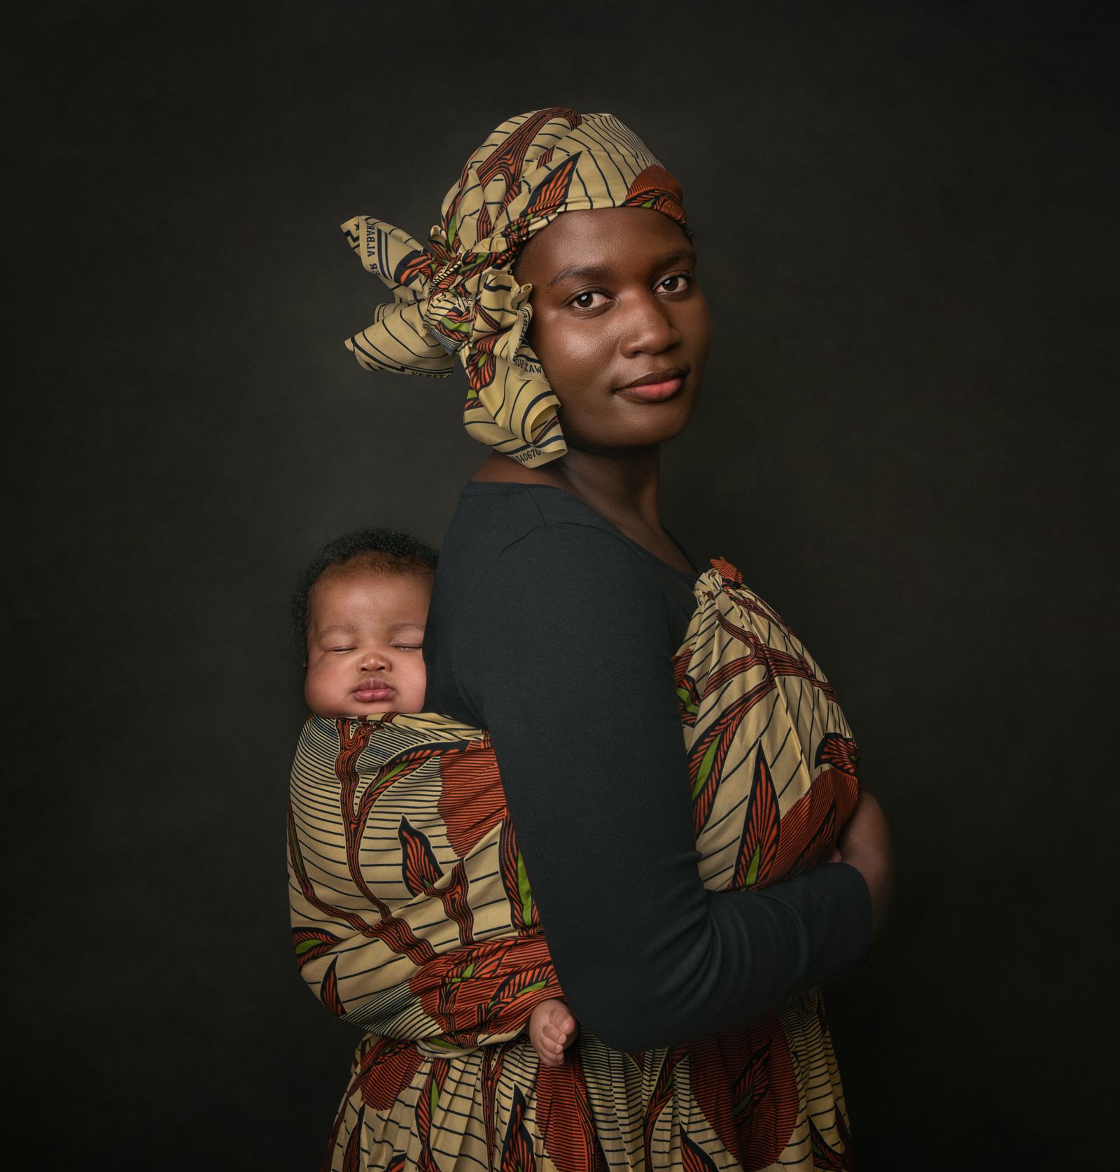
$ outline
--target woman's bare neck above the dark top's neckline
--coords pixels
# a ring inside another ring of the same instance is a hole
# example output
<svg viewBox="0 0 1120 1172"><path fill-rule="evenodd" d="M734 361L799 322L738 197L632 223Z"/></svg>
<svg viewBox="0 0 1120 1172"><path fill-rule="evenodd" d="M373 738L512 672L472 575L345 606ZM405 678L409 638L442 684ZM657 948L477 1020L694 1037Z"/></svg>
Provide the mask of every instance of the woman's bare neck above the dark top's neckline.
<svg viewBox="0 0 1120 1172"><path fill-rule="evenodd" d="M541 468L524 468L508 456L494 452L474 479L563 489L663 561L680 570L691 570L684 554L661 529L657 496L660 472L659 447L624 452L569 449L565 456Z"/></svg>

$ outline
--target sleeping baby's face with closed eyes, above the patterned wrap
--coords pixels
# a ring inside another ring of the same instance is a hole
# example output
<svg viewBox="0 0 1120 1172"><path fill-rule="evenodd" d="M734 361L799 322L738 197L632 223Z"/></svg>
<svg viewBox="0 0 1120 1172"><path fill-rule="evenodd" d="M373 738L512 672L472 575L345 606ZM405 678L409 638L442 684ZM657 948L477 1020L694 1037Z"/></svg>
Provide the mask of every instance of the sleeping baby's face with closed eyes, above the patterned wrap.
<svg viewBox="0 0 1120 1172"><path fill-rule="evenodd" d="M307 707L328 718L421 711L430 599L427 574L326 571L308 599Z"/></svg>

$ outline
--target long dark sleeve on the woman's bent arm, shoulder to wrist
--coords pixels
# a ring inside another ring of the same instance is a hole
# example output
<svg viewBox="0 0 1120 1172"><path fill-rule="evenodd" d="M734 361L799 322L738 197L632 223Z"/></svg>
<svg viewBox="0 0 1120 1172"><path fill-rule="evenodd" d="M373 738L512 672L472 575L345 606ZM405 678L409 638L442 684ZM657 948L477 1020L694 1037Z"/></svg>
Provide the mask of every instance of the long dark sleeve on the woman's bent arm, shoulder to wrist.
<svg viewBox="0 0 1120 1172"><path fill-rule="evenodd" d="M557 975L588 1029L618 1050L676 1044L866 961L870 900L854 867L705 890L676 647L626 543L536 529L459 614L459 687L490 730Z"/></svg>

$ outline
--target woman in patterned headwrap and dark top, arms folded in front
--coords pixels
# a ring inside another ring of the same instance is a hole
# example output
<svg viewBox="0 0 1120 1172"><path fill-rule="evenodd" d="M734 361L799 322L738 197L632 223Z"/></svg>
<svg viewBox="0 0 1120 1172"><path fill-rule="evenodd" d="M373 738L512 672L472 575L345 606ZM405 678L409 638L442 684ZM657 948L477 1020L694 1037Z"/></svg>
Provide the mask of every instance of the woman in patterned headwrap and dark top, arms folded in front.
<svg viewBox="0 0 1120 1172"><path fill-rule="evenodd" d="M502 1011L478 1028L426 1034L450 1057L381 1041L420 1036L402 1008L409 981L418 999L423 986L427 1020L446 1026L454 1013L441 1017L430 974L444 989L482 980L467 947L482 933L463 928L469 852L456 849L460 878L448 879L432 836L419 844L408 823L403 870L428 860L425 891L442 892L471 963L429 961L416 919L414 943L398 950L415 976L389 996L391 982L371 976L380 962L346 968L349 946L317 938L319 968L305 975L380 1035L359 1050L328 1166L844 1166L842 1091L819 996L803 990L866 959L889 886L888 834L873 799L856 804L854 743L800 643L733 567L698 579L659 522L659 445L688 422L708 345L680 189L609 115L549 109L498 127L443 212L427 248L378 220L347 225L395 297L349 345L364 364L406 373L446 374L457 355L467 428L494 448L441 553L427 708L449 718L448 743L477 747L467 730L487 730L501 825L516 827L516 847L495 839L516 863L498 867L514 877L516 939L495 961L504 983L487 988L507 989L516 973L518 988L555 995L558 976L582 1033L562 1074L537 1070L495 992L487 1004ZM738 652L725 656L728 639ZM722 657L695 669L712 646ZM790 697L807 697L806 711ZM366 762L374 777L430 748L407 718L401 729L389 730L406 736L395 756ZM340 754L348 735L339 730ZM469 784L442 768L446 813L448 793ZM828 858L854 804L843 861L776 881ZM758 829L767 817L769 839ZM800 829L779 840L779 818ZM318 897L301 866L297 925L310 931ZM532 952L538 926L555 972ZM446 960L459 948L440 950Z"/></svg>

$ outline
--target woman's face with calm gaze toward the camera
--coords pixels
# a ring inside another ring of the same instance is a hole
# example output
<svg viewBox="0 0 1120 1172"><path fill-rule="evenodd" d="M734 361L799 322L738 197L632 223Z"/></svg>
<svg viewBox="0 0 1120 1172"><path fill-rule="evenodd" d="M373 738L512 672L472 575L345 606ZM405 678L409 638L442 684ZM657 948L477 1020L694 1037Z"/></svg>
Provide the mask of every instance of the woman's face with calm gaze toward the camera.
<svg viewBox="0 0 1120 1172"><path fill-rule="evenodd" d="M695 264L680 226L644 207L565 212L525 245L529 343L570 448L646 447L684 429L710 335Z"/></svg>

